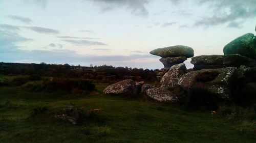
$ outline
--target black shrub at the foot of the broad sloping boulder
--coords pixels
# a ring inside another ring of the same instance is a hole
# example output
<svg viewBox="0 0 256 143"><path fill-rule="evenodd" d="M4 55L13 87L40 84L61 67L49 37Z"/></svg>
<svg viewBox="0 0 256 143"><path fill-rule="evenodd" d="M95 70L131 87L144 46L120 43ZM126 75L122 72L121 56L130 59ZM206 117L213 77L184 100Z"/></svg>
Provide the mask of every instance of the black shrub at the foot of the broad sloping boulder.
<svg viewBox="0 0 256 143"><path fill-rule="evenodd" d="M217 109L217 95L203 88L188 91L185 97L185 106L189 109Z"/></svg>

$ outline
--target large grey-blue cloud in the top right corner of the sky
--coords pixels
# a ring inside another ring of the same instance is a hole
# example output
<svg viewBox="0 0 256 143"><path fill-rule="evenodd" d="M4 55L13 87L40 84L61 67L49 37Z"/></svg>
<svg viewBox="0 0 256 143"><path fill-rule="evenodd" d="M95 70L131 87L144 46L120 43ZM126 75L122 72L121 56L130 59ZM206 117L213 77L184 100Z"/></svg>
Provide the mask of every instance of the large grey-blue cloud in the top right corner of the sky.
<svg viewBox="0 0 256 143"><path fill-rule="evenodd" d="M254 0L201 0L201 5L208 5L213 14L204 16L194 23L194 27L228 24L228 27L241 28L243 21L256 17Z"/></svg>

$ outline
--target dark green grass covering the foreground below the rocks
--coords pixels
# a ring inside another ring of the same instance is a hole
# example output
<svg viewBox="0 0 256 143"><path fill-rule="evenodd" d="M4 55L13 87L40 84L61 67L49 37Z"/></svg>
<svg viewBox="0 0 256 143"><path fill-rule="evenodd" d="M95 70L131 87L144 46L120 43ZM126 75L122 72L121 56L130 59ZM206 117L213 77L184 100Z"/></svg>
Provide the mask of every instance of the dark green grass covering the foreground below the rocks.
<svg viewBox="0 0 256 143"><path fill-rule="evenodd" d="M1 77L0 77L1 78ZM0 87L0 142L255 142L251 123L233 124L210 112L186 111L145 97L28 92ZM72 125L51 118L73 105L101 109L99 119ZM48 110L31 118L34 108ZM242 130L241 130L242 129Z"/></svg>

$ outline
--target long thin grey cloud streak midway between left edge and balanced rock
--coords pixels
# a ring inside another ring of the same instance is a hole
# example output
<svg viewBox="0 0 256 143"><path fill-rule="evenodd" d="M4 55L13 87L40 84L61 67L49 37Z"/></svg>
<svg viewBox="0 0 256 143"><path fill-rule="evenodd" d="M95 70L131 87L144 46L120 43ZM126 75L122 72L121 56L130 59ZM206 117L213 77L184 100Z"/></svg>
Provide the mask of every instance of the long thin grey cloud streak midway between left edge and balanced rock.
<svg viewBox="0 0 256 143"><path fill-rule="evenodd" d="M91 46L91 45L107 45L102 42L97 41L89 41L89 40L71 40L71 39L63 39L62 41L72 43L78 46Z"/></svg>

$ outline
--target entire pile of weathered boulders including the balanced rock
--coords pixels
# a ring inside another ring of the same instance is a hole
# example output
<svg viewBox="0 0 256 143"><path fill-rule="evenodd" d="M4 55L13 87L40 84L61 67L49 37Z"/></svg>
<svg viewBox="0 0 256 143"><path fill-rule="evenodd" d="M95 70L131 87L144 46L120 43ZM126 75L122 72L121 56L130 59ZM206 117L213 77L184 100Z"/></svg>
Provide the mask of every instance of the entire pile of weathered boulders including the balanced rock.
<svg viewBox="0 0 256 143"><path fill-rule="evenodd" d="M110 85L104 93L138 94L141 91L141 94L157 101L177 102L180 93L174 89L188 91L202 88L221 100L232 100L232 95L237 91L245 91L255 98L256 37L253 34L245 34L228 43L224 47L224 55L193 57L194 50L181 45L158 48L150 53L161 56L160 61L164 65L163 69L155 71L160 80L158 87L123 80ZM191 58L194 69L186 69L183 62L187 58Z"/></svg>

